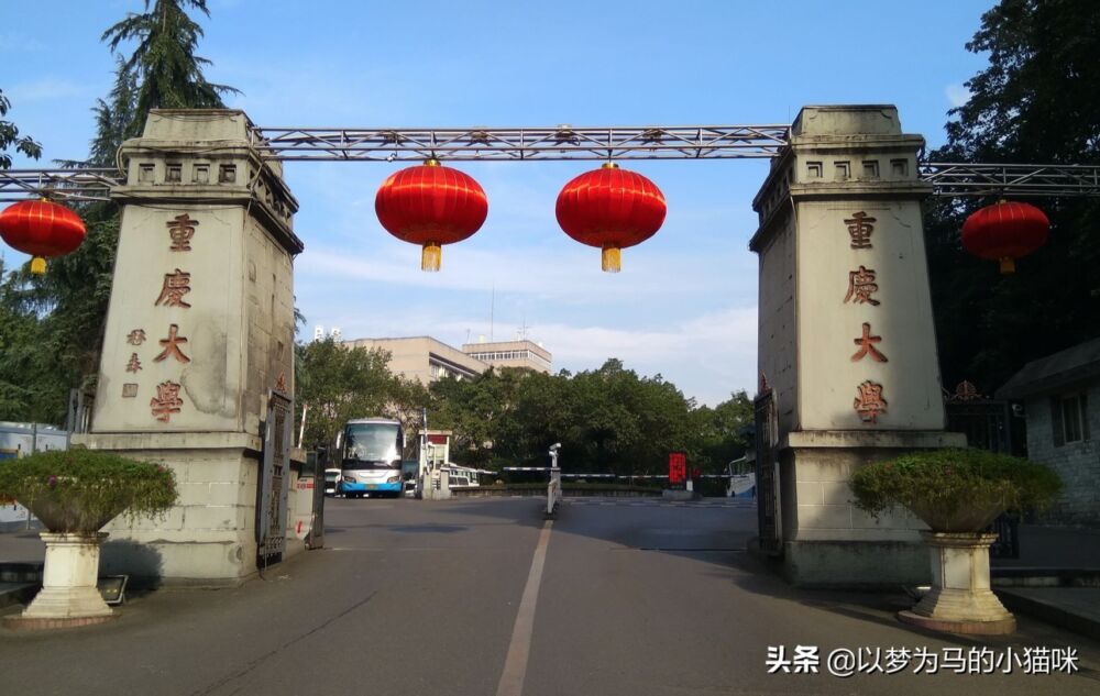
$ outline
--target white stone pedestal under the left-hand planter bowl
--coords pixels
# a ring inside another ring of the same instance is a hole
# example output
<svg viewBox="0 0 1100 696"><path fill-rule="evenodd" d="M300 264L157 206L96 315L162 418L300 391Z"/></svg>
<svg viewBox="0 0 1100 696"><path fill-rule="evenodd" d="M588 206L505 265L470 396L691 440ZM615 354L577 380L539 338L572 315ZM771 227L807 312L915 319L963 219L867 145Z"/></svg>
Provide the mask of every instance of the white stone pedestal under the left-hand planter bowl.
<svg viewBox="0 0 1100 696"><path fill-rule="evenodd" d="M63 628L101 623L114 618L96 582L99 577L99 546L107 532L42 532L46 542L42 590L11 628Z"/></svg>

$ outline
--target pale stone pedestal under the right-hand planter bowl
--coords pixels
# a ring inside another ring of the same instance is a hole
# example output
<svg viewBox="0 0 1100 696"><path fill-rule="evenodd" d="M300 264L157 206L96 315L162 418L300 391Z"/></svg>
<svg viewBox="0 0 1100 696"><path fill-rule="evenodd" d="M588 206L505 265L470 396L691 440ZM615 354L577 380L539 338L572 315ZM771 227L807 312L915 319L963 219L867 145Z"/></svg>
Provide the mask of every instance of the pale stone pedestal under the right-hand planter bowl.
<svg viewBox="0 0 1100 696"><path fill-rule="evenodd" d="M989 583L987 532L921 532L932 555L932 589L898 618L906 623L952 633L1004 634L1016 629Z"/></svg>

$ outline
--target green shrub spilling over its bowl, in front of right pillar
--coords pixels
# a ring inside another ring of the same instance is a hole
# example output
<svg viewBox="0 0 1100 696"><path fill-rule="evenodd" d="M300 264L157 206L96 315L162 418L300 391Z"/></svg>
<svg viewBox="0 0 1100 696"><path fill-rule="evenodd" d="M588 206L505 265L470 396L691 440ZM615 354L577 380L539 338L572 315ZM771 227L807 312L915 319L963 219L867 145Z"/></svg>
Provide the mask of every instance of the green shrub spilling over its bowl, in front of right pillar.
<svg viewBox="0 0 1100 696"><path fill-rule="evenodd" d="M1005 511L1042 509L1062 490L1050 468L977 449L924 450L877 462L851 477L856 506L878 515L909 508L935 532L979 532Z"/></svg>

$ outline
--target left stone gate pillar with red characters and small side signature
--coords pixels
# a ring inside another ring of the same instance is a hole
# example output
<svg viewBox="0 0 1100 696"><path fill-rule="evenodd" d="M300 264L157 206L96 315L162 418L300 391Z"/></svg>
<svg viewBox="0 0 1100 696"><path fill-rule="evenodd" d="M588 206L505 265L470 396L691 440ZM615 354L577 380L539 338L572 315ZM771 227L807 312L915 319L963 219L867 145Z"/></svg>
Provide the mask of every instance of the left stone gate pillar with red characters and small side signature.
<svg viewBox="0 0 1100 696"><path fill-rule="evenodd" d="M255 137L241 111L157 110L122 146L96 408L74 442L163 462L180 498L164 519L108 527L102 572L219 585L256 570L261 420L272 389L293 393L302 244Z"/></svg>

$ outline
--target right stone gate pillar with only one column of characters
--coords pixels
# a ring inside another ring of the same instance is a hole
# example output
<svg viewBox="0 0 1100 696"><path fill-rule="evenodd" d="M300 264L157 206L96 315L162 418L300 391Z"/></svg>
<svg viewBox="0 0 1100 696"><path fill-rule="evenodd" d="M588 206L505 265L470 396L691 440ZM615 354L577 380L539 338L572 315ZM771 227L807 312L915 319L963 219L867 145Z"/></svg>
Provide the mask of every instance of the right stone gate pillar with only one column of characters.
<svg viewBox="0 0 1100 696"><path fill-rule="evenodd" d="M966 443L944 432L923 146L902 133L895 107L805 107L752 203L761 390L773 395L778 426L778 546L795 584L928 581L923 524L903 512L875 520L847 484L866 462Z"/></svg>

